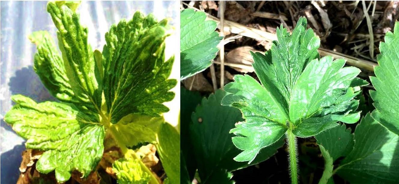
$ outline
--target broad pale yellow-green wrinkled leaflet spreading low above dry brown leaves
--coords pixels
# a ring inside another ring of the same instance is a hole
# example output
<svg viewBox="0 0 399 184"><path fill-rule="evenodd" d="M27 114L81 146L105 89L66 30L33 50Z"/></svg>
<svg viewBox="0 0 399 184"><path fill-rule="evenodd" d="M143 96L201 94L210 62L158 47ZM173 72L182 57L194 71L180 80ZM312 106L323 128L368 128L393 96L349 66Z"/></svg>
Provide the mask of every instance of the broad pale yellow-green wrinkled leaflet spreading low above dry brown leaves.
<svg viewBox="0 0 399 184"><path fill-rule="evenodd" d="M81 113L74 105L57 102L36 103L22 95L4 117L26 147L44 150L36 164L42 173L55 170L58 182L67 181L77 170L86 177L103 156L104 128L97 117Z"/></svg>

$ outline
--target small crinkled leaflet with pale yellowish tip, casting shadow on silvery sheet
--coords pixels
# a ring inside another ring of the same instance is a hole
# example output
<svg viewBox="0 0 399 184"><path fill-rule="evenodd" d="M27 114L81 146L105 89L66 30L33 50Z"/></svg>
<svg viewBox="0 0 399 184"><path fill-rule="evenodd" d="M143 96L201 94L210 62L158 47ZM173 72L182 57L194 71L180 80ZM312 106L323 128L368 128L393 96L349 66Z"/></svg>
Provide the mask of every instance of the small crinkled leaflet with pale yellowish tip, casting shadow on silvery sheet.
<svg viewBox="0 0 399 184"><path fill-rule="evenodd" d="M38 51L34 56L34 70L51 95L67 103L79 103L69 85L64 63L51 35L38 31L29 36Z"/></svg>

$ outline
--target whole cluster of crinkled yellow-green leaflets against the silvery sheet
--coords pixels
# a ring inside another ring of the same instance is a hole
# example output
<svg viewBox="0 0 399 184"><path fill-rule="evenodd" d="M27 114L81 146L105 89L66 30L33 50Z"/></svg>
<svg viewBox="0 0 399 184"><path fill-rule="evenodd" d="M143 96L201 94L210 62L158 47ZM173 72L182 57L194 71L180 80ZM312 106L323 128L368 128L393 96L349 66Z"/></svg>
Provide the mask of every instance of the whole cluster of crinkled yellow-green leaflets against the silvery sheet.
<svg viewBox="0 0 399 184"><path fill-rule="evenodd" d="M45 174L55 171L58 182L69 180L75 170L82 177L95 170L105 138L115 139L123 154L139 142L161 147L156 135L166 124L162 113L169 111L162 103L174 98L169 90L177 83L168 79L174 57L165 59L168 20L158 22L151 14L136 12L131 20L111 26L101 53L87 43L88 30L80 25L77 6L63 1L47 4L61 55L48 32L30 36L38 49L34 70L60 102L36 103L14 95L16 105L4 117L27 139L26 148L44 151L36 169ZM159 154L169 158L163 155L165 150ZM169 177L170 170L165 170Z"/></svg>

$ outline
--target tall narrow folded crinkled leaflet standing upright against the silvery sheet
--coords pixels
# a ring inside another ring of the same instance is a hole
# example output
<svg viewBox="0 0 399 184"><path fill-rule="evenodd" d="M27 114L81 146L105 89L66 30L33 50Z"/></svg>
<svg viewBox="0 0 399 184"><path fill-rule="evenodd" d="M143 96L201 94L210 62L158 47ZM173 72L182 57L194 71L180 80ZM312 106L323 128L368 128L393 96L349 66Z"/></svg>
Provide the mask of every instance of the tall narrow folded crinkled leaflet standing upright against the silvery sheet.
<svg viewBox="0 0 399 184"><path fill-rule="evenodd" d="M101 81L95 77L93 50L87 43L88 31L80 25L75 5L49 2L47 12L58 29L58 45L69 84L80 102L77 105L98 112L101 107Z"/></svg>

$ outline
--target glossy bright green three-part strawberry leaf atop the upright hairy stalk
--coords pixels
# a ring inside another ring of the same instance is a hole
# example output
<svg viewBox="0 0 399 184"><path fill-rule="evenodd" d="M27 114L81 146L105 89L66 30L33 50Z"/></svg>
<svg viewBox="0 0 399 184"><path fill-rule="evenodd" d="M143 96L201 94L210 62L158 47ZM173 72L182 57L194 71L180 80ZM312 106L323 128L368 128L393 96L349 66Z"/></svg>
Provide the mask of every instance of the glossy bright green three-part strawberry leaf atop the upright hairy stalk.
<svg viewBox="0 0 399 184"><path fill-rule="evenodd" d="M244 150L235 160L251 163L261 148L287 130L310 137L337 126L337 121L355 123L360 118L354 112L359 104L354 97L359 85L367 84L355 78L360 70L344 67L343 59L318 59L320 39L306 30L306 24L300 18L291 35L282 26L277 28L278 41L271 49L265 55L252 53L261 84L249 75L235 75L235 81L225 86L229 94L222 104L239 108L245 118L231 129L237 135L233 143Z"/></svg>

